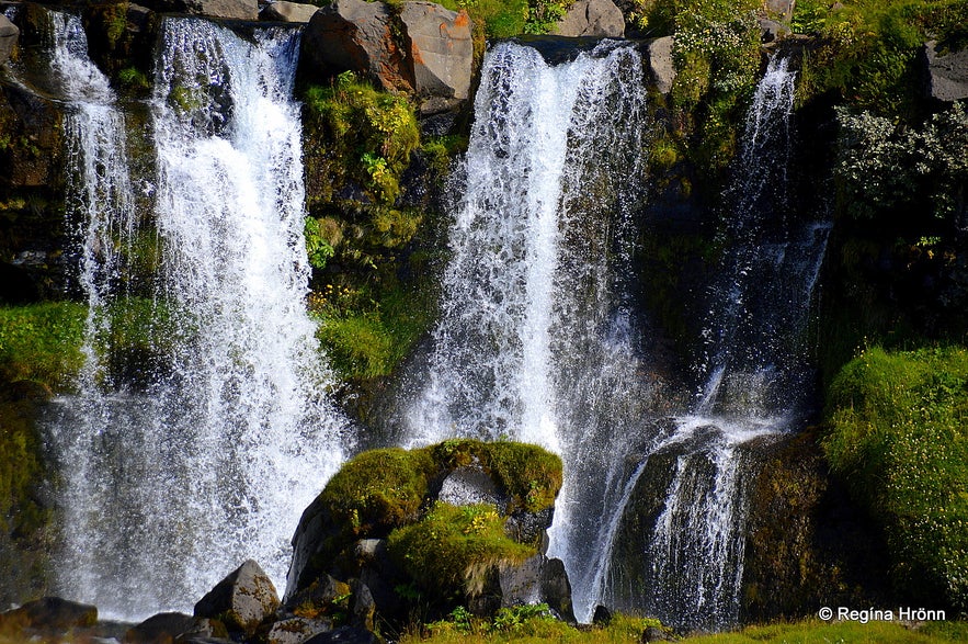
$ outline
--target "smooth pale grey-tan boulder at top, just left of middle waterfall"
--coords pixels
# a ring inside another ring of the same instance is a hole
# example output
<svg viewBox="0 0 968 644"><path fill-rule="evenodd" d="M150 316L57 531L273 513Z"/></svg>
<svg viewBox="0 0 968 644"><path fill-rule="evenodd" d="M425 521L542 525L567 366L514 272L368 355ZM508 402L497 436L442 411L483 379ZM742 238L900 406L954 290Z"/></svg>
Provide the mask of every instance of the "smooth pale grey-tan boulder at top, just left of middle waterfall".
<svg viewBox="0 0 968 644"><path fill-rule="evenodd" d="M474 43L467 12L433 2L405 2L403 39L421 97L464 100L470 94Z"/></svg>

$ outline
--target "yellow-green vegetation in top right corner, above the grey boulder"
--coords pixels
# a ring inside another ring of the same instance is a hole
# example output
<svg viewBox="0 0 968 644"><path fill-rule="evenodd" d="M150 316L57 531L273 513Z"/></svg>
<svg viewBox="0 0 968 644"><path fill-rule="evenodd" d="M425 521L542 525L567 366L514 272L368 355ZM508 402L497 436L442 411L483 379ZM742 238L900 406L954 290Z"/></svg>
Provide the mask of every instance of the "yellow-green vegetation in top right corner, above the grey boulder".
<svg viewBox="0 0 968 644"><path fill-rule="evenodd" d="M930 35L942 49L968 38L963 0L800 0L793 27L816 35L800 78L800 97L825 92L854 108L893 117L916 112L915 64Z"/></svg>

